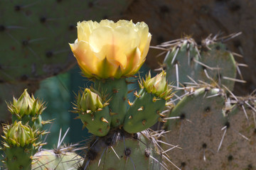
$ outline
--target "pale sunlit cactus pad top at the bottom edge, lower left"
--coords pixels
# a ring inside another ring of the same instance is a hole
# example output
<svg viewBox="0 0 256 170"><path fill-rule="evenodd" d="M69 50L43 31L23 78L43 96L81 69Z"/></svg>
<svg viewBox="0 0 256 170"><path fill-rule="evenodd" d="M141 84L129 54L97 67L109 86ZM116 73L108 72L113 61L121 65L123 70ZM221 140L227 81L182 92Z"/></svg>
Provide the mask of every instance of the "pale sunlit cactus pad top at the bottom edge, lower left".
<svg viewBox="0 0 256 170"><path fill-rule="evenodd" d="M57 150L41 150L33 156L32 169L77 169L82 164L82 157L74 152L57 152Z"/></svg>

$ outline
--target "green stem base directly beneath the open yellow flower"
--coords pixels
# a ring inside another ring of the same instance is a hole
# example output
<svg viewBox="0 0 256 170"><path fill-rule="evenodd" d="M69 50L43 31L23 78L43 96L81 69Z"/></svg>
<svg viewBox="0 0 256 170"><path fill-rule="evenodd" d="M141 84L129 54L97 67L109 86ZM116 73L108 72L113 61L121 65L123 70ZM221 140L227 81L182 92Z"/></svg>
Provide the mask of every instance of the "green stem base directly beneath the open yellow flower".
<svg viewBox="0 0 256 170"><path fill-rule="evenodd" d="M95 79L94 82L94 88L110 100L111 127L118 127L123 123L127 111L126 79Z"/></svg>

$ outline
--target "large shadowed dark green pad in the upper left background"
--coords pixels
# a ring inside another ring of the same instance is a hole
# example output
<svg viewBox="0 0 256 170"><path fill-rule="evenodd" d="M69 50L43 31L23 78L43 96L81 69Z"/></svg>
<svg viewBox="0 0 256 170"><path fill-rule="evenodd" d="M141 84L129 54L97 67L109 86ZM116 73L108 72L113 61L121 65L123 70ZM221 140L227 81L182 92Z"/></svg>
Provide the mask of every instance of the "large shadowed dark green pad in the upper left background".
<svg viewBox="0 0 256 170"><path fill-rule="evenodd" d="M75 23L117 16L124 1L0 1L0 83L31 82L65 72L75 64L68 42Z"/></svg>

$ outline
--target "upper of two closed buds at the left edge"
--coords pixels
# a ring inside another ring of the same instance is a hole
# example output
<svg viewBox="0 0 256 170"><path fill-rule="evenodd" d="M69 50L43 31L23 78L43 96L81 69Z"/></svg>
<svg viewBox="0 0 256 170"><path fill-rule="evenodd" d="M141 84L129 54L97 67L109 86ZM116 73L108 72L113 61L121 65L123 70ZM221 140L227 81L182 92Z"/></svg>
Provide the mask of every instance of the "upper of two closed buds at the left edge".
<svg viewBox="0 0 256 170"><path fill-rule="evenodd" d="M40 115L46 108L44 103L35 99L33 95L29 96L26 89L18 100L14 98L14 101L7 103L7 106L11 114L18 116L19 120L23 115Z"/></svg>

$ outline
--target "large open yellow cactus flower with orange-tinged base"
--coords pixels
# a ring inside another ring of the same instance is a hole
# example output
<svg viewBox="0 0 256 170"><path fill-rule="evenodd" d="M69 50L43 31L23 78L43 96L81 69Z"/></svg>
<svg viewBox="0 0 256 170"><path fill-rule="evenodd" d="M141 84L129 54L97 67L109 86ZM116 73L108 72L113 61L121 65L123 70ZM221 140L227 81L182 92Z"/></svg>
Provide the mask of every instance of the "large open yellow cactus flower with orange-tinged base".
<svg viewBox="0 0 256 170"><path fill-rule="evenodd" d="M144 22L82 21L78 22L78 39L70 47L85 77L119 79L139 71L150 40Z"/></svg>

